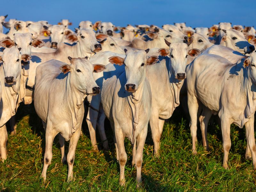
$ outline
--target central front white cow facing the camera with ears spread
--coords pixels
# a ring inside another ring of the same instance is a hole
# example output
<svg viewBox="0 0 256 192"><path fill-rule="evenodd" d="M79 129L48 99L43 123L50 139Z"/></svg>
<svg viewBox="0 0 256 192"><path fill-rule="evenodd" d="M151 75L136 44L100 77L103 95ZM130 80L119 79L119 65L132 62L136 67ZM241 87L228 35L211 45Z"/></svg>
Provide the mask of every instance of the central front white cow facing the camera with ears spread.
<svg viewBox="0 0 256 192"><path fill-rule="evenodd" d="M141 183L143 147L148 132L151 107L151 90L146 78L146 66L158 61L158 57L146 59L149 49L125 50L125 58L110 57L102 87L102 106L114 131L116 156L120 164L119 184L125 184L124 166L127 161L124 138L132 142L132 164L136 165L138 184ZM123 66L122 66L123 65ZM117 69L116 69L117 68ZM143 114L143 115L141 115ZM137 145L137 148L136 148Z"/></svg>

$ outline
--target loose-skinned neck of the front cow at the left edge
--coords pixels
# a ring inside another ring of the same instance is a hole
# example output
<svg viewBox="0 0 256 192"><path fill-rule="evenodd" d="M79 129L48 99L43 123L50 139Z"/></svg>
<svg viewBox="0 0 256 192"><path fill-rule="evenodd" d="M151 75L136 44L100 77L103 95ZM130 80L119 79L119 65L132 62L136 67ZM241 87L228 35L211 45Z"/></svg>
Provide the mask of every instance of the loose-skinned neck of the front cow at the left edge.
<svg viewBox="0 0 256 192"><path fill-rule="evenodd" d="M18 108L17 101L20 94L20 78L21 74L16 78L16 83L13 85L4 82L4 68L0 66L0 82L2 85L2 102L7 102L11 116L14 116Z"/></svg>

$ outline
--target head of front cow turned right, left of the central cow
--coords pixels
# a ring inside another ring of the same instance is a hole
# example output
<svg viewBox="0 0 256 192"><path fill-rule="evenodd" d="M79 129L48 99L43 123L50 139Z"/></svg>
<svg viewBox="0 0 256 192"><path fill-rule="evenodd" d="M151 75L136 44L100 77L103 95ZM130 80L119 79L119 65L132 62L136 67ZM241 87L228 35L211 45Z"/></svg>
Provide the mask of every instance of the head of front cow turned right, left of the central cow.
<svg viewBox="0 0 256 192"><path fill-rule="evenodd" d="M71 64L63 65L60 67L60 69L64 74L70 72L70 83L72 84L71 86L74 86L76 90L86 95L96 95L100 93L100 87L93 79L92 73L103 71L105 66L100 64L92 65L92 63L87 60L87 57L68 57L68 59L70 60Z"/></svg>

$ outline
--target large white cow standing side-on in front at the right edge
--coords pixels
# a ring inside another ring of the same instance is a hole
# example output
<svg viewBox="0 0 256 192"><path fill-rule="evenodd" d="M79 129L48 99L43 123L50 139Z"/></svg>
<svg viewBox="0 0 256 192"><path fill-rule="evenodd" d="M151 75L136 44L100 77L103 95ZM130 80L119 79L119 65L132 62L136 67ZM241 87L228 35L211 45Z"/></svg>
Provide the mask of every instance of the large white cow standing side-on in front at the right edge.
<svg viewBox="0 0 256 192"><path fill-rule="evenodd" d="M197 112L204 108L204 116L200 119L201 129L204 130L212 113L220 117L224 150L223 167L228 168L228 152L231 147L230 124L234 123L240 128L245 125L253 168L256 169L255 65L255 52L251 53L249 58L237 61L236 65L212 54L202 54L188 65L188 109L193 154L196 154Z"/></svg>

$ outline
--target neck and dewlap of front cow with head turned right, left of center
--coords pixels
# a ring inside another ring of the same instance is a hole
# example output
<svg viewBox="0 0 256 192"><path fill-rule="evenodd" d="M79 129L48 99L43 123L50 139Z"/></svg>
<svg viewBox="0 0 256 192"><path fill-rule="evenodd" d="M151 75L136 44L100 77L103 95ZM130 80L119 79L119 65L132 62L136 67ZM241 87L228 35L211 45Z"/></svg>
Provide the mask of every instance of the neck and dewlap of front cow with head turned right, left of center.
<svg viewBox="0 0 256 192"><path fill-rule="evenodd" d="M67 81L66 81L66 91L67 91L67 100L68 100L68 108L71 113L71 118L72 118L72 130L71 133L73 134L77 130L77 123L78 123L78 113L81 107L83 108L84 105L84 99L86 97L86 94L83 92L78 91L73 85L70 80L70 72L68 73L67 76ZM74 113L74 112L75 113Z"/></svg>

